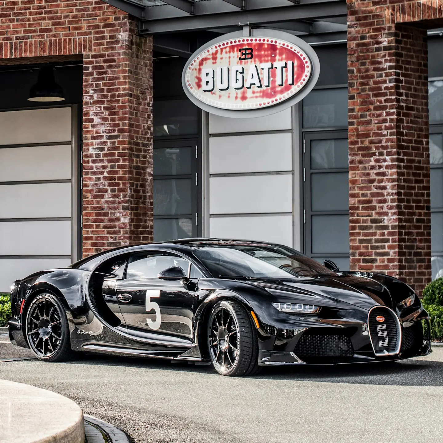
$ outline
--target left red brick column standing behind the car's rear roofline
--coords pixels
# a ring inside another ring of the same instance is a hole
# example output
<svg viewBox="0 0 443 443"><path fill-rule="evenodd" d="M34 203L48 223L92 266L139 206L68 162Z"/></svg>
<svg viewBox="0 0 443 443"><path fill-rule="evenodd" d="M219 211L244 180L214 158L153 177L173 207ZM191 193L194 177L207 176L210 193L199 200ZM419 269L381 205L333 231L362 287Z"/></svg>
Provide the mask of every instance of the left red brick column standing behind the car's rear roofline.
<svg viewBox="0 0 443 443"><path fill-rule="evenodd" d="M83 255L152 241L152 38L103 23L83 55Z"/></svg>

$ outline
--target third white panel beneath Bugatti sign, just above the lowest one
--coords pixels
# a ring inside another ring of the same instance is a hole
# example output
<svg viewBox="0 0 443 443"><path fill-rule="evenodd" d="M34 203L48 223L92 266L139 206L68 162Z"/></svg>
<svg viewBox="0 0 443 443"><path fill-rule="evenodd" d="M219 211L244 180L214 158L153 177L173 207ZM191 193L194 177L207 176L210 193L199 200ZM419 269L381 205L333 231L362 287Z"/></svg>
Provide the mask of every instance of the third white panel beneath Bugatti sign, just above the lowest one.
<svg viewBox="0 0 443 443"><path fill-rule="evenodd" d="M210 214L292 212L292 175L211 177Z"/></svg>

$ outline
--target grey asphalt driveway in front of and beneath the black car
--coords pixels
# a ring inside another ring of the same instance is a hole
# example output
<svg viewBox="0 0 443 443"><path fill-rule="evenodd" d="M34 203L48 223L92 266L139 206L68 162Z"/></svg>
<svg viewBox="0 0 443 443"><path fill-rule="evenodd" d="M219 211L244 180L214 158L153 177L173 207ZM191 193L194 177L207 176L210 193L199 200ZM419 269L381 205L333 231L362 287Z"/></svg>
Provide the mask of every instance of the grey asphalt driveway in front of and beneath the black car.
<svg viewBox="0 0 443 443"><path fill-rule="evenodd" d="M0 333L0 359L29 356ZM433 442L443 423L443 348L409 361L267 368L86 357L0 362L0 378L50 389L135 442ZM47 411L45 413L50 413Z"/></svg>

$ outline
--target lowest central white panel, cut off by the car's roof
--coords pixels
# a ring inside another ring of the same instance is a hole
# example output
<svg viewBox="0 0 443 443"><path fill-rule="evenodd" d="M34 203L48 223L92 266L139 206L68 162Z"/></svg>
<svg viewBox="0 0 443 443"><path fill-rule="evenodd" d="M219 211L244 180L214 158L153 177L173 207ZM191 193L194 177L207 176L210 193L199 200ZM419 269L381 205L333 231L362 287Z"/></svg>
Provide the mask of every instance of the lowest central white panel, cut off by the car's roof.
<svg viewBox="0 0 443 443"><path fill-rule="evenodd" d="M211 217L210 237L266 241L292 247L292 214Z"/></svg>

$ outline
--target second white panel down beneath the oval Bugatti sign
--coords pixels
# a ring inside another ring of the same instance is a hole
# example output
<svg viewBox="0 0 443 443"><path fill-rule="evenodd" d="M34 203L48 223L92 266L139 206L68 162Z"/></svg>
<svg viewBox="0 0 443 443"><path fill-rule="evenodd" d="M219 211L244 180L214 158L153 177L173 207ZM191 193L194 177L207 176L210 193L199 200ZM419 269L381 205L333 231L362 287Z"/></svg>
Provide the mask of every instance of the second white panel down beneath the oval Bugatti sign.
<svg viewBox="0 0 443 443"><path fill-rule="evenodd" d="M292 170L291 132L209 139L210 174Z"/></svg>

